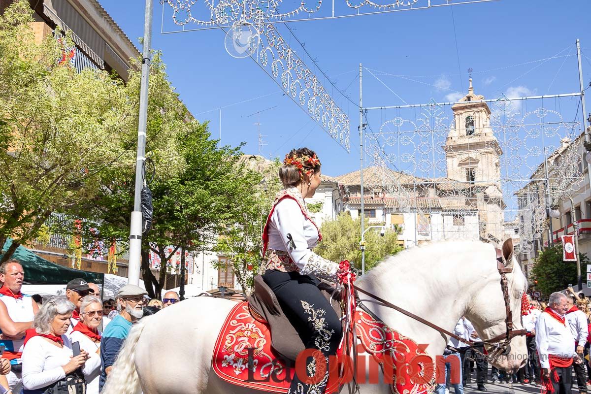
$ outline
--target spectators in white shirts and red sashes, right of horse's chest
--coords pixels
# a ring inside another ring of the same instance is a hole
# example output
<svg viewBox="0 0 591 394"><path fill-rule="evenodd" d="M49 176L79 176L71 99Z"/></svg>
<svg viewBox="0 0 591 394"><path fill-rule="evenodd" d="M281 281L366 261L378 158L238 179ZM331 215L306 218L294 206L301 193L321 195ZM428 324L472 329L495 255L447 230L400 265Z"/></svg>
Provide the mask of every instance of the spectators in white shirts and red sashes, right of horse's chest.
<svg viewBox="0 0 591 394"><path fill-rule="evenodd" d="M463 394L476 372L476 389L488 391L485 383L517 383L532 385L543 393L570 394L573 384L579 393L587 393L591 386L589 348L591 341L591 299L576 294L572 288L567 294L554 292L548 302L532 300L529 296L522 304L522 323L528 358L517 373L506 373L488 368L486 351L478 333L466 317L456 324L453 333L474 345L452 338L444 352L446 384L436 388L437 394L453 389ZM450 371L459 366L461 379L450 379Z"/></svg>

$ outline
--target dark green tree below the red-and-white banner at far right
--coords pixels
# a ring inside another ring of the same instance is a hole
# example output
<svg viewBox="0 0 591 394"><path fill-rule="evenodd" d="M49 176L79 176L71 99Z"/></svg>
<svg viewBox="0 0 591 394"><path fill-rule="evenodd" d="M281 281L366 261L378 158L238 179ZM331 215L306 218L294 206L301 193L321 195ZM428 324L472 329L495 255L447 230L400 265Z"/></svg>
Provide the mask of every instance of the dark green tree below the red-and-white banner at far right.
<svg viewBox="0 0 591 394"><path fill-rule="evenodd" d="M577 284L577 265L573 261L563 261L563 246L552 246L540 252L531 270L532 281L537 281L535 288L545 297L555 291L564 290L568 285ZM586 272L589 259L579 253L581 272ZM584 280L584 278L583 278Z"/></svg>

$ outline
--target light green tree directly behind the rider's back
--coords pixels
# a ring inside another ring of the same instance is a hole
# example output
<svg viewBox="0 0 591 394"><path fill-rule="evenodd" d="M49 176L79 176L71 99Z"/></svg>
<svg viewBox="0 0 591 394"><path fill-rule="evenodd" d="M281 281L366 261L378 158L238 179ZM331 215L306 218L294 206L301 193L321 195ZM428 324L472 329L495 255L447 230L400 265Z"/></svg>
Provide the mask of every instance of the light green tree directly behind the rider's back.
<svg viewBox="0 0 591 394"><path fill-rule="evenodd" d="M230 258L236 281L247 294L254 286L262 257L262 229L267 222L275 194L281 189L277 176L280 162L265 161L261 157L244 157L247 170L259 180L251 193L241 200L241 214L233 226L218 240L215 250ZM219 263L214 262L216 268Z"/></svg>

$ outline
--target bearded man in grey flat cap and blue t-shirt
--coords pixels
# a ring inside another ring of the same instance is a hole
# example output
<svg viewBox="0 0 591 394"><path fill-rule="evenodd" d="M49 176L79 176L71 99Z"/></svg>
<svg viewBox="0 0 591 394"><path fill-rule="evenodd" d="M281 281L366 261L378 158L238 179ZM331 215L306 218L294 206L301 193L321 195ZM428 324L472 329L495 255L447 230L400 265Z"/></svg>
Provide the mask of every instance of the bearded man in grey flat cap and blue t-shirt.
<svg viewBox="0 0 591 394"><path fill-rule="evenodd" d="M119 314L105 328L100 340L99 391L103 389L106 377L111 373L117 354L131 330L132 323L138 321L144 314L142 300L146 294L148 294L147 291L136 285L125 285L119 289L115 299Z"/></svg>

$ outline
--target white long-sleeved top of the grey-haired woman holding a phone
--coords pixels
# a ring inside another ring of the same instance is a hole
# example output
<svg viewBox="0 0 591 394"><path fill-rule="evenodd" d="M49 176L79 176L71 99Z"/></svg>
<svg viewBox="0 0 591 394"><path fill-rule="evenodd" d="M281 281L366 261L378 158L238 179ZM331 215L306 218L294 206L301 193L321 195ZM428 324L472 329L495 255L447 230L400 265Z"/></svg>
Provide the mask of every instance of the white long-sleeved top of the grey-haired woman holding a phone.
<svg viewBox="0 0 591 394"><path fill-rule="evenodd" d="M41 389L66 377L62 366L70 362L72 343L61 336L63 347L44 337L33 337L22 350L22 385L27 390Z"/></svg>

